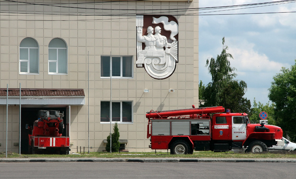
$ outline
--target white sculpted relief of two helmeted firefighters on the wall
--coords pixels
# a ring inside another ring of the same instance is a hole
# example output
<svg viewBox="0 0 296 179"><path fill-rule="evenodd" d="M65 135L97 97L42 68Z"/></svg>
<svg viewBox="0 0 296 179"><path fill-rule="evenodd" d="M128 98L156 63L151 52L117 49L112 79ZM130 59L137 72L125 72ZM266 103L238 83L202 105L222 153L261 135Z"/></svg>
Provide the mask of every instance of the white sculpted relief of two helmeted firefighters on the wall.
<svg viewBox="0 0 296 179"><path fill-rule="evenodd" d="M161 34L162 28L147 27L147 35L143 35L143 16L136 18L137 25L137 67L145 67L146 72L155 79L168 78L175 70L178 62L178 41L174 36L178 34L178 25L174 21L168 22L168 17L153 17L153 24L163 24L166 31L170 31L169 39ZM152 24L151 24L152 25ZM142 49L142 43L145 48Z"/></svg>

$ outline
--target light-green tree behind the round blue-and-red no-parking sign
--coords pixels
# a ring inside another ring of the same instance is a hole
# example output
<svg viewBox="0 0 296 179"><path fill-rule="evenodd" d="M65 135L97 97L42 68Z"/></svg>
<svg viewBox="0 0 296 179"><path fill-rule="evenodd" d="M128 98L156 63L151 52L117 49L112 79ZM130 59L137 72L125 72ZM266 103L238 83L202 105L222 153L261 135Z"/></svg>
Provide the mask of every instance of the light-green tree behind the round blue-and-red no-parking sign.
<svg viewBox="0 0 296 179"><path fill-rule="evenodd" d="M268 103L266 103L265 105L263 105L263 103L260 103L260 101L258 101L258 103L256 102L255 98L254 98L254 103L253 103L253 107L251 108L251 112L250 112L250 121L253 121L254 123L258 124L260 121L260 117L259 114L260 112L264 111L267 113L267 120L268 120L268 124L269 125L277 125L276 121L274 119L274 103L271 103L269 105L269 101Z"/></svg>

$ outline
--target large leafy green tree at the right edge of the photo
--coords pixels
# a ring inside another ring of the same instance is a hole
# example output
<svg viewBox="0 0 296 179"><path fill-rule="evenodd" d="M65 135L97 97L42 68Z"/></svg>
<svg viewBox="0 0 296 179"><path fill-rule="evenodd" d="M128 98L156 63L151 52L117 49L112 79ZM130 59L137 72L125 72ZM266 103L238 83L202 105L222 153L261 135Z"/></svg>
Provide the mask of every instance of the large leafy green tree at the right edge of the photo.
<svg viewBox="0 0 296 179"><path fill-rule="evenodd" d="M282 67L273 79L268 97L275 104L276 124L296 141L296 59L290 69Z"/></svg>

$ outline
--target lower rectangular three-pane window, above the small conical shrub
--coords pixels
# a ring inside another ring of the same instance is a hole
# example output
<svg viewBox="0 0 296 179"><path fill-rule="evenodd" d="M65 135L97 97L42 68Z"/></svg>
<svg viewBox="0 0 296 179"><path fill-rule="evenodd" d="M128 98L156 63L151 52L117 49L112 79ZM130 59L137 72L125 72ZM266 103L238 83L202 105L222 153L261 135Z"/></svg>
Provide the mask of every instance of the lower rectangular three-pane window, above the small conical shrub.
<svg viewBox="0 0 296 179"><path fill-rule="evenodd" d="M112 123L132 123L132 101L112 101ZM110 101L101 101L101 123L110 123Z"/></svg>

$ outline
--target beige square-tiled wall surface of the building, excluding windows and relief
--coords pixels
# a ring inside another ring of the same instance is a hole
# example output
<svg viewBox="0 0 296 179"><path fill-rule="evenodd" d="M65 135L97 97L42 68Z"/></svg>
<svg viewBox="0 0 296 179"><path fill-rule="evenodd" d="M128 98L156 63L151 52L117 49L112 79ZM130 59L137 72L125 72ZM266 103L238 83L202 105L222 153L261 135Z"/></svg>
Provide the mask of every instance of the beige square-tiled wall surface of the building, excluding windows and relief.
<svg viewBox="0 0 296 179"><path fill-rule="evenodd" d="M66 2L66 1L65 1ZM94 7L93 4L87 6L73 5L76 7ZM8 6L7 6L8 7ZM111 4L96 4L97 13L109 13L99 8L132 9L176 9L198 7L198 1L176 2L176 1L128 1L114 2ZM3 6L1 6L3 8ZM54 12L67 14L83 14L93 11L74 8L41 7L36 8L26 6L9 7L17 10L32 12L44 12L52 14ZM152 12L152 11L145 12ZM161 10L168 14L167 10ZM118 13L118 12L116 12ZM121 13L121 12L120 12ZM122 12L126 13L126 11ZM141 11L137 11L141 13ZM172 12L177 14L178 12ZM179 12L183 13L183 12ZM4 18L4 16L1 16ZM118 16L120 17L120 16ZM110 100L110 79L102 79L101 55L131 55L133 56L133 78L132 79L112 79L112 99L133 101L133 124L119 124L120 139L128 139L127 147L129 151L151 151L147 149L149 139L146 138L147 111L171 110L190 108L192 104L198 104L198 17L176 16L179 24L179 62L175 72L167 79L156 80L151 78L144 68L136 68L136 26L135 18L112 20L92 20L104 19L105 16L26 16L16 17L5 16L5 18L17 18L17 23L1 20L0 23L0 87L17 88L22 83L22 88L83 88L87 93L87 52L90 54L90 101L86 100L86 105L90 106L90 145L97 147L93 151L102 151L105 147L102 142L109 135L110 124L100 123L100 103L102 100ZM21 20L23 19L23 20ZM86 21L86 19L90 21ZM25 21L44 20L44 21ZM52 21L53 20L53 21ZM65 20L65 21L60 21ZM67 21L70 20L70 21ZM78 21L77 21L78 20ZM16 22L16 21L14 21ZM112 29L112 30L111 30ZM194 38L192 38L192 36ZM25 37L33 37L39 45L39 75L19 75L19 44ZM62 38L68 46L68 74L48 75L48 44L52 38ZM149 93L144 93L144 89L149 89ZM168 92L174 89L175 92ZM71 151L76 151L75 146L87 146L88 130L88 107L71 106L70 125ZM4 108L0 109L0 115L4 114ZM17 107L16 107L17 109ZM1 112L2 111L2 112ZM10 115L10 119L18 118L17 114ZM1 122L1 117L0 117ZM3 124L3 117L2 117ZM18 151L17 146L12 146L18 140L18 122L10 123L11 134L10 148ZM112 124L113 128L113 124ZM15 134L14 134L15 133ZM0 133L0 143L3 136ZM3 149L0 146L0 150ZM134 149L133 149L134 148Z"/></svg>

